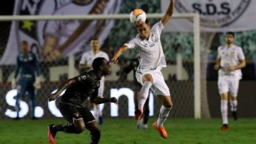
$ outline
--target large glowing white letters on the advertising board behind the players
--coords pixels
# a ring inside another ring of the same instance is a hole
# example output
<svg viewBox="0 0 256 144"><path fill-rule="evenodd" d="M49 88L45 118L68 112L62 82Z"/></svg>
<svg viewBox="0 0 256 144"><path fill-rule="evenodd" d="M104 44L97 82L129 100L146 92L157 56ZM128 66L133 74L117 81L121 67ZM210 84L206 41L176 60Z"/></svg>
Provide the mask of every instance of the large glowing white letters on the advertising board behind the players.
<svg viewBox="0 0 256 144"><path fill-rule="evenodd" d="M57 99L59 99L65 92L66 90L64 90L60 96L58 96ZM53 92L51 92L51 94L53 94L54 92L56 92L56 90L53 90ZM14 98L17 95L17 90L10 90L9 92L7 92L5 99L7 101L7 104L15 107L16 105L16 99ZM111 88L110 89L110 96L111 97L116 97L117 99L120 98L121 96L126 96L128 99L128 116L129 117L134 117L134 111L135 111L135 104L134 104L134 92L133 90L131 90L130 88ZM120 105L119 105L120 106ZM48 101L48 108L49 111L51 112L51 114L53 114L55 117L62 117L59 109L56 107L56 99L54 101ZM102 111L104 109L104 103L100 104L100 111ZM150 116L154 116L154 95L152 94L152 92L150 92L150 99L149 99L149 110ZM29 111L29 105L28 103L26 103L25 101L20 100L20 118L25 117L26 115L28 115L28 111ZM91 111L91 113L94 113L94 111ZM17 116L17 112L16 111L12 111L11 109L7 109L5 111L5 115L7 117L11 117L11 118L15 118ZM43 117L44 115L44 109L42 107L35 107L35 117L40 118ZM118 117L118 105L111 103L110 105L110 116L111 117Z"/></svg>

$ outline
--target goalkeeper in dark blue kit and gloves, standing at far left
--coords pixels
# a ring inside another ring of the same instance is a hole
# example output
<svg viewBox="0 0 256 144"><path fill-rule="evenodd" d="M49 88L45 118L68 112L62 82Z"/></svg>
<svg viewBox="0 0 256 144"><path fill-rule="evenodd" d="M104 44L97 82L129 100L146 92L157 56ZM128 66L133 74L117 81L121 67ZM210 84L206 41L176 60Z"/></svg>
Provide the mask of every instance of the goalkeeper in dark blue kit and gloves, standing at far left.
<svg viewBox="0 0 256 144"><path fill-rule="evenodd" d="M40 85L40 71L39 71L39 62L35 54L29 52L28 50L28 42L22 41L21 43L22 53L18 54L16 59L16 68L14 73L14 78L12 79L12 89L17 89L18 94L16 96L16 111L17 117L16 120L20 119L20 97L24 96L26 92L28 92L30 96L30 106L32 112L32 119L36 119L35 117L35 88L38 89L41 87ZM35 77L36 72L36 77ZM18 84L16 85L16 78L20 73L20 79L18 80Z"/></svg>

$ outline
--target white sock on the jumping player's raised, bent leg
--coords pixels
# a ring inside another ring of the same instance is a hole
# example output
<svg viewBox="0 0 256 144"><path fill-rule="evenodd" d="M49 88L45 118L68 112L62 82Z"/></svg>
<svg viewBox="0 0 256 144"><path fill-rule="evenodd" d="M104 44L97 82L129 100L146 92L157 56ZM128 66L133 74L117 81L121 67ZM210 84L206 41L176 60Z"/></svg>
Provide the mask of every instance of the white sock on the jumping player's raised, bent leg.
<svg viewBox="0 0 256 144"><path fill-rule="evenodd" d="M146 99L148 98L148 93L149 93L151 86L152 86L152 82L145 81L142 88L140 89L140 98L139 98L138 109L143 109Z"/></svg>

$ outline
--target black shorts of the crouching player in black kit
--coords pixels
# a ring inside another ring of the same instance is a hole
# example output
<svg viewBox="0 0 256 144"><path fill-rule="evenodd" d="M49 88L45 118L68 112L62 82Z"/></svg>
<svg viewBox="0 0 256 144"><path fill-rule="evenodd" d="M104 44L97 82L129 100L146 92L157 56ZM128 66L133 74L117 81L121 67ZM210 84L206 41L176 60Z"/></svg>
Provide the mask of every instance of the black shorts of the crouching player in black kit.
<svg viewBox="0 0 256 144"><path fill-rule="evenodd" d="M74 123L74 120L83 119L85 124L95 120L93 114L87 107L75 107L66 103L59 103L60 113L70 123Z"/></svg>

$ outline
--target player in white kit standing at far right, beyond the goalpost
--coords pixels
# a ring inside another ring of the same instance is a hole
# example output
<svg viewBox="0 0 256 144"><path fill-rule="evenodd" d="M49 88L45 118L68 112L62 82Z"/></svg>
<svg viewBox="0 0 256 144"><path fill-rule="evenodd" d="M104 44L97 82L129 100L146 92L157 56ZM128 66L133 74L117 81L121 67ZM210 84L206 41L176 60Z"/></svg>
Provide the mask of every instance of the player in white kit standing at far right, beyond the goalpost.
<svg viewBox="0 0 256 144"><path fill-rule="evenodd" d="M234 33L226 33L226 45L219 46L218 57L214 69L218 70L218 88L221 95L221 115L223 126L221 130L228 130L228 92L230 107L234 120L237 117L237 105L239 81L242 79L241 68L245 67L244 52L240 46L234 45Z"/></svg>

